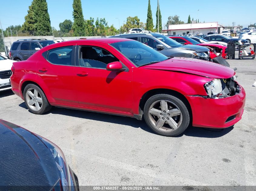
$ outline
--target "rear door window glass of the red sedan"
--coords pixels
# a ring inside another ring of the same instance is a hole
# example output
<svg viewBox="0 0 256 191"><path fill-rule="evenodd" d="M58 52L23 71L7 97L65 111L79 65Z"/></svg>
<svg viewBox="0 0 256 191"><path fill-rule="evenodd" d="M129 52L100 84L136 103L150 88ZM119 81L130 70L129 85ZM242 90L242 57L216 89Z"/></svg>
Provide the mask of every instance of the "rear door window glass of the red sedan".
<svg viewBox="0 0 256 191"><path fill-rule="evenodd" d="M73 46L64 46L48 50L47 60L52 64L72 65Z"/></svg>

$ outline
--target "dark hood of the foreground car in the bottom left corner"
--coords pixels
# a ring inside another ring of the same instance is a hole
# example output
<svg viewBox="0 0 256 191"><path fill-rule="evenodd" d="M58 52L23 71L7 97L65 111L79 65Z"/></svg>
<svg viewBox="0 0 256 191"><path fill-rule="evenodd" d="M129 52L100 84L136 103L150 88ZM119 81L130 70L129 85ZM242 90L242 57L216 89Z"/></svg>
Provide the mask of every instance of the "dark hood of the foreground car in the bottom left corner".
<svg viewBox="0 0 256 191"><path fill-rule="evenodd" d="M38 135L0 119L0 147L0 188L50 190L59 180L52 153Z"/></svg>

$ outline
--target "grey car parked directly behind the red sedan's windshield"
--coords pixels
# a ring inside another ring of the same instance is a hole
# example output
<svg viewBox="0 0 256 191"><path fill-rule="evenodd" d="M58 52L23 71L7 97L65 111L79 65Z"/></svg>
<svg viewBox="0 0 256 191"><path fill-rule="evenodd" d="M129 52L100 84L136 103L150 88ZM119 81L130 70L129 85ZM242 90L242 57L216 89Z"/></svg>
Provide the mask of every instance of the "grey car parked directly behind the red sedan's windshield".
<svg viewBox="0 0 256 191"><path fill-rule="evenodd" d="M194 45L182 46L182 44L160 33L121 34L112 37L137 40L168 57L187 57L209 60L208 48Z"/></svg>

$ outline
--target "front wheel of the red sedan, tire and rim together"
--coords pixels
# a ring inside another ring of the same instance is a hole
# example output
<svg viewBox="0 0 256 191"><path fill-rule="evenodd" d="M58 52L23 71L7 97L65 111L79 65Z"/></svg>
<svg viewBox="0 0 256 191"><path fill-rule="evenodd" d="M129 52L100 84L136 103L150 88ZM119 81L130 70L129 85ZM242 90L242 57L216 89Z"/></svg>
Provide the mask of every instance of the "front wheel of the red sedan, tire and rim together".
<svg viewBox="0 0 256 191"><path fill-rule="evenodd" d="M144 118L152 131L169 137L180 135L190 123L186 105L178 97L169 94L150 97L144 106Z"/></svg>

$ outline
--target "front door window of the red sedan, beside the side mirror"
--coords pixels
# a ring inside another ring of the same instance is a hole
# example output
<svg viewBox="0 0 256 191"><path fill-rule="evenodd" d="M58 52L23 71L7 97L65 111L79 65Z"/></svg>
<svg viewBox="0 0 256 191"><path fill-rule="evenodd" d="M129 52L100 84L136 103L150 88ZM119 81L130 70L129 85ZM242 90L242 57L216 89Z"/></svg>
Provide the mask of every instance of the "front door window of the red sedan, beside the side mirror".
<svg viewBox="0 0 256 191"><path fill-rule="evenodd" d="M95 46L80 46L79 66L106 69L108 63L119 61L105 49Z"/></svg>

